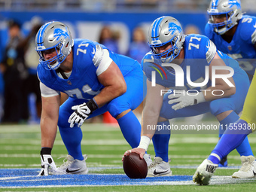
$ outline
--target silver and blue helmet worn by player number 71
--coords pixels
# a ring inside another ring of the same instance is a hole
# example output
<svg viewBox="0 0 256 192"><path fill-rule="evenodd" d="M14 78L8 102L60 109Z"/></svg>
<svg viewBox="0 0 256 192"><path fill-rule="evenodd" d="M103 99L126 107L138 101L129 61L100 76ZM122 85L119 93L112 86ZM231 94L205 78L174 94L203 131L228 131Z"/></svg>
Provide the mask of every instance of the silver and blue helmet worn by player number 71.
<svg viewBox="0 0 256 192"><path fill-rule="evenodd" d="M73 45L74 40L69 31L69 27L58 21L45 23L35 36L35 50L40 56L39 64L44 66L44 69L47 70L58 69L60 63L62 63L71 52ZM56 51L56 56L46 60L44 53L47 52L47 50Z"/></svg>

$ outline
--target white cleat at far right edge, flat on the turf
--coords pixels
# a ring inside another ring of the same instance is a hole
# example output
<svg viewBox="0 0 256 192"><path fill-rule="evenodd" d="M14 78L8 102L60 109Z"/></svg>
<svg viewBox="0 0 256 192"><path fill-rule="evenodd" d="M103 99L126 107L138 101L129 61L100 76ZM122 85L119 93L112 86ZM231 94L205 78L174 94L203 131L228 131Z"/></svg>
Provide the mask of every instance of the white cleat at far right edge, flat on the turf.
<svg viewBox="0 0 256 192"><path fill-rule="evenodd" d="M242 167L234 172L233 178L254 178L256 177L256 162L253 156L241 156Z"/></svg>

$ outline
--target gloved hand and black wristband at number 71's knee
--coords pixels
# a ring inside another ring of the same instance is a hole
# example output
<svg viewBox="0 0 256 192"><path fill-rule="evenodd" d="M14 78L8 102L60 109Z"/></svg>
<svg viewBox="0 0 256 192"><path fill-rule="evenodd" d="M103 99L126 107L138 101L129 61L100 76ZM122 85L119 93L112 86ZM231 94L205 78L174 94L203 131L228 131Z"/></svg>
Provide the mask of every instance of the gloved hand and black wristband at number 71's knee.
<svg viewBox="0 0 256 192"><path fill-rule="evenodd" d="M81 105L73 106L72 110L75 111L69 117L70 127L73 128L75 123L78 123L78 127L80 127L84 123L84 120L86 120L97 108L98 105L94 99L91 99L89 102L84 102Z"/></svg>

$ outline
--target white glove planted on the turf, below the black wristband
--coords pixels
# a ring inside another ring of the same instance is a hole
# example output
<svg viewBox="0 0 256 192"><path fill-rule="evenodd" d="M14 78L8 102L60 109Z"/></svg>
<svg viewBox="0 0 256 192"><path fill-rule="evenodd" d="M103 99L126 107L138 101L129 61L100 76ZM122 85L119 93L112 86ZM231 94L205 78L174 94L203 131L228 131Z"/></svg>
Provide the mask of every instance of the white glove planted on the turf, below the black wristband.
<svg viewBox="0 0 256 192"><path fill-rule="evenodd" d="M41 154L41 171L38 176L49 175L49 168L52 168L54 172L57 171L53 157L50 154Z"/></svg>

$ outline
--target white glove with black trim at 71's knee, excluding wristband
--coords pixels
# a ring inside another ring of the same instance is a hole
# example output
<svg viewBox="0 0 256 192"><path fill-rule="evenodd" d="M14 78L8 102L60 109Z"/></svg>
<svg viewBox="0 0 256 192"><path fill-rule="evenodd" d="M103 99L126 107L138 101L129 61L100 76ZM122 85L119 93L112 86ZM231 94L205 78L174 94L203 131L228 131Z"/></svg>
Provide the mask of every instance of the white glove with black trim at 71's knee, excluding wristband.
<svg viewBox="0 0 256 192"><path fill-rule="evenodd" d="M84 120L86 120L87 117L93 113L93 111L90 110L90 108L87 106L87 103L85 102L81 105L73 106L72 110L75 111L69 117L71 128L74 127L75 123L78 123L78 127L80 127L84 123Z"/></svg>

